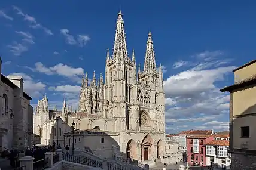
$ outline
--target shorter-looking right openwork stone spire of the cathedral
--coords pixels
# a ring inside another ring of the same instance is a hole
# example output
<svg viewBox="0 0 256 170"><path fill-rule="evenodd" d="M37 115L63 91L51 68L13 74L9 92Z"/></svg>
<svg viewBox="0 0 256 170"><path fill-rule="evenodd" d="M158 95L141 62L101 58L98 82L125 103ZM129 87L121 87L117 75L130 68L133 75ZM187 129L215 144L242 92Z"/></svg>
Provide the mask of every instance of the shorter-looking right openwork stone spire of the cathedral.
<svg viewBox="0 0 256 170"><path fill-rule="evenodd" d="M147 49L144 61L144 72L156 72L156 60L151 31L148 33Z"/></svg>

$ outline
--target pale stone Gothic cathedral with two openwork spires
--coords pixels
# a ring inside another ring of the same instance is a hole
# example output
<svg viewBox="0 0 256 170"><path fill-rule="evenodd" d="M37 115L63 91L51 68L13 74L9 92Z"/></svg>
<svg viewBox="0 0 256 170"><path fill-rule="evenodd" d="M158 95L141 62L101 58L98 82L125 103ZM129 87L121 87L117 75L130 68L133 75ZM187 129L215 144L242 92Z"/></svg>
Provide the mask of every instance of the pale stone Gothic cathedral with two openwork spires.
<svg viewBox="0 0 256 170"><path fill-rule="evenodd" d="M56 143L63 145L66 140L64 133L70 131L67 127L74 121L75 128L81 131L96 129L115 132L120 152L134 160L143 162L164 156L163 71L161 66L156 66L151 32L148 33L144 67L141 68L136 64L135 51L128 55L123 14L120 11L114 50L112 54L109 53L108 50L105 79L100 74L96 81L95 72L91 81L87 72L83 76L77 112L68 109L66 99L60 111L48 109L46 96L38 101L34 134L41 137L42 144L51 144L57 136Z"/></svg>

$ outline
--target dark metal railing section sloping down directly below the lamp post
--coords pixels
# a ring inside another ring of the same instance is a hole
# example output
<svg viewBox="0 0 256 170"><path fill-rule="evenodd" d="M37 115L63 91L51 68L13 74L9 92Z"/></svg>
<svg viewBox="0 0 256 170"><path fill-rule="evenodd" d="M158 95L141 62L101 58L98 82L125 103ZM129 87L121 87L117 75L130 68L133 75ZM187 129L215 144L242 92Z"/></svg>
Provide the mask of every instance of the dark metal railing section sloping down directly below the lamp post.
<svg viewBox="0 0 256 170"><path fill-rule="evenodd" d="M66 160L68 162L80 163L82 165L102 168L102 161L94 160L86 156L74 156L65 154L63 155L63 160Z"/></svg>

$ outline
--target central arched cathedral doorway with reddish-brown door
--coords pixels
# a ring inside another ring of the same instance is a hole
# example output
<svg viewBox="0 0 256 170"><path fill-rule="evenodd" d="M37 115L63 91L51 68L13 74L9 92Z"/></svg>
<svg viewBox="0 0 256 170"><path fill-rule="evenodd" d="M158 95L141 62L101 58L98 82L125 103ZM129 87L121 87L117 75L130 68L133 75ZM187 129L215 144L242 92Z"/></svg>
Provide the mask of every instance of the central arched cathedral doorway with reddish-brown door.
<svg viewBox="0 0 256 170"><path fill-rule="evenodd" d="M146 135L141 143L141 160L151 160L154 157L154 141L150 135Z"/></svg>

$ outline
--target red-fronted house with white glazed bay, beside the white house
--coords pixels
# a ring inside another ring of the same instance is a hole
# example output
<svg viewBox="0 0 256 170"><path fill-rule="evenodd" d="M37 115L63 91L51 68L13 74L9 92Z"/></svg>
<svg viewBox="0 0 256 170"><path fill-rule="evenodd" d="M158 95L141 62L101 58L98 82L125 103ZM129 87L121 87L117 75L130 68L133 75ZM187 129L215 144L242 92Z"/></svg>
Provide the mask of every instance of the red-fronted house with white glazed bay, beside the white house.
<svg viewBox="0 0 256 170"><path fill-rule="evenodd" d="M205 144L214 140L213 135L188 135L187 136L187 162L190 166L206 165Z"/></svg>

